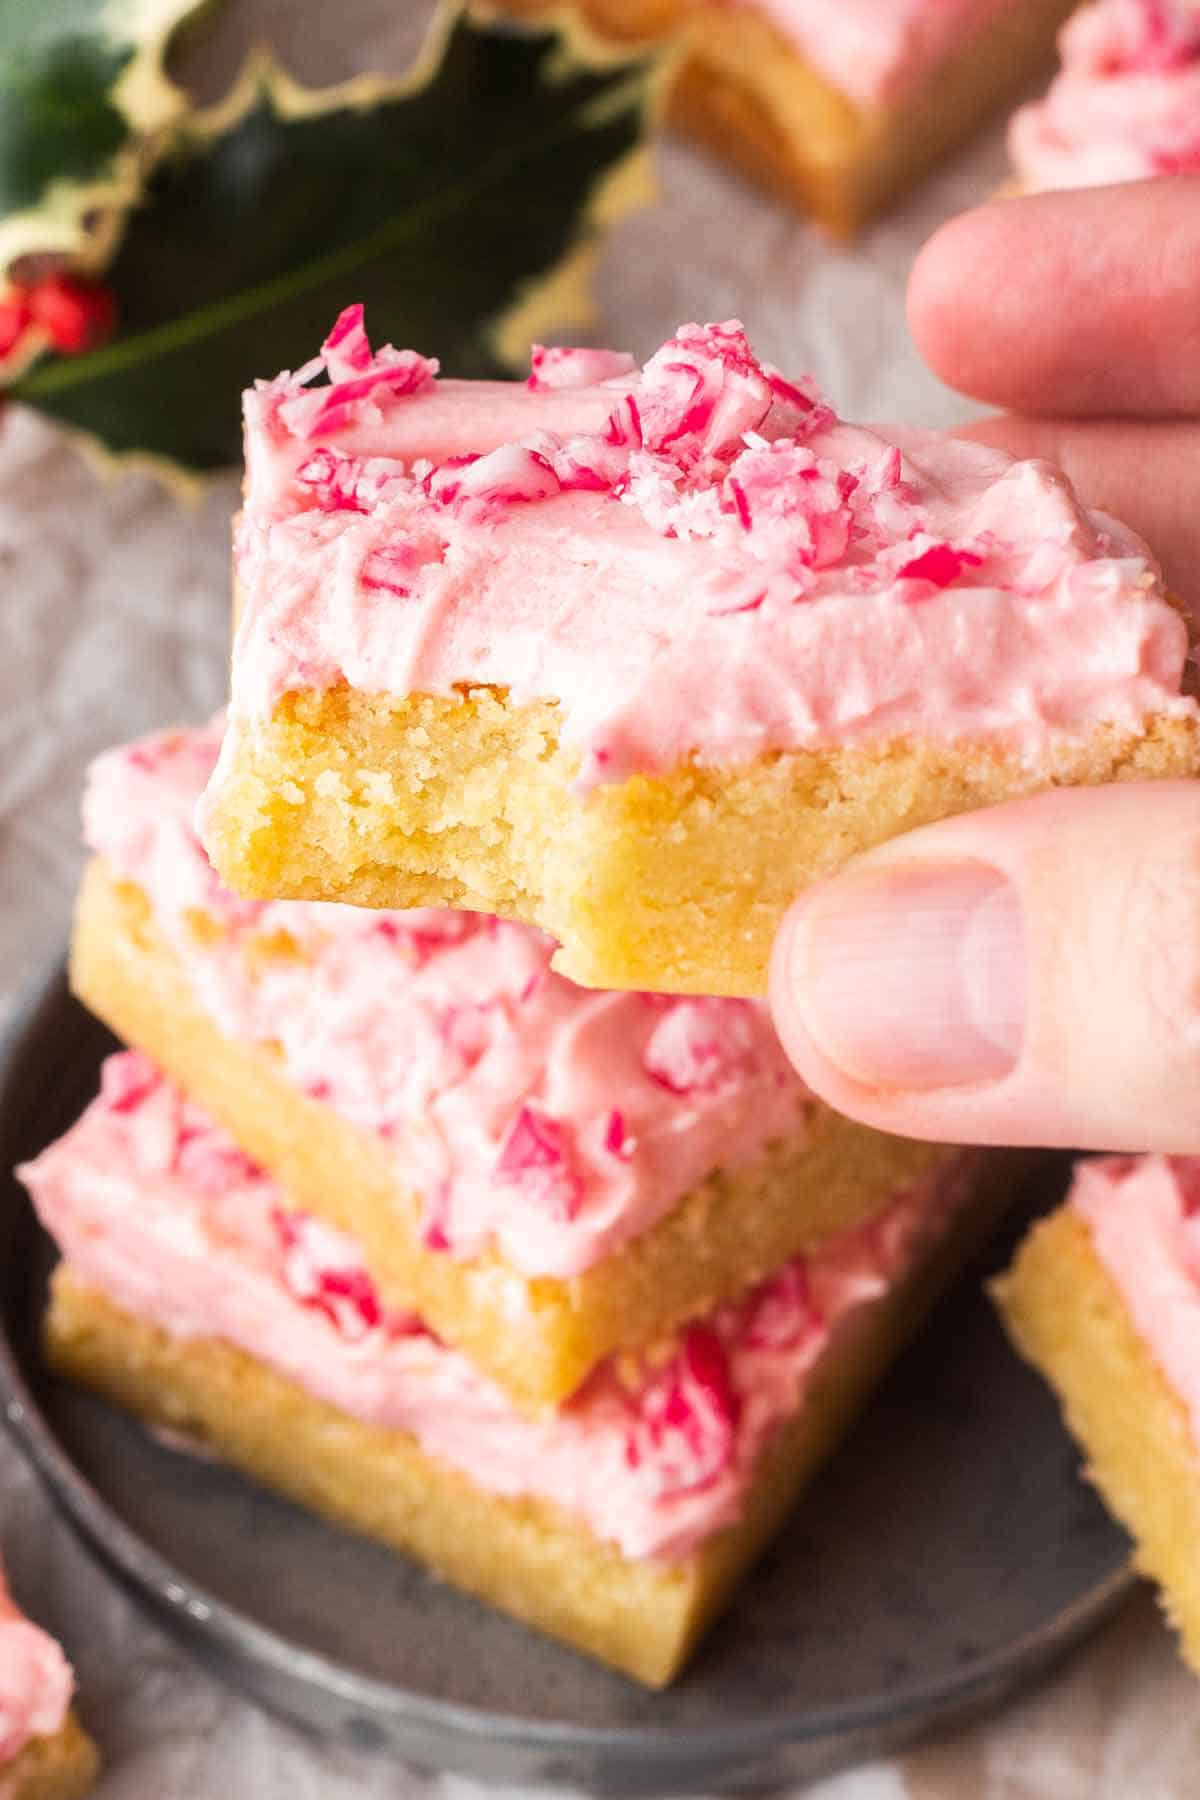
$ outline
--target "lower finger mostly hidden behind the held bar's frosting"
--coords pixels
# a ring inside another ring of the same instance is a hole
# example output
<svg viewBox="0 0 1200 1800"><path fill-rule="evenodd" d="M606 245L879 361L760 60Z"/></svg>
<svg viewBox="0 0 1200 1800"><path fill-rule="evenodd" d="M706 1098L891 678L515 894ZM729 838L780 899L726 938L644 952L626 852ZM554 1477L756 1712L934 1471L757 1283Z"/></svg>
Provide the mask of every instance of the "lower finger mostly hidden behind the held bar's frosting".
<svg viewBox="0 0 1200 1800"><path fill-rule="evenodd" d="M1169 590L1200 619L1200 423L1006 416L955 436L1058 463L1088 506L1146 538Z"/></svg>

